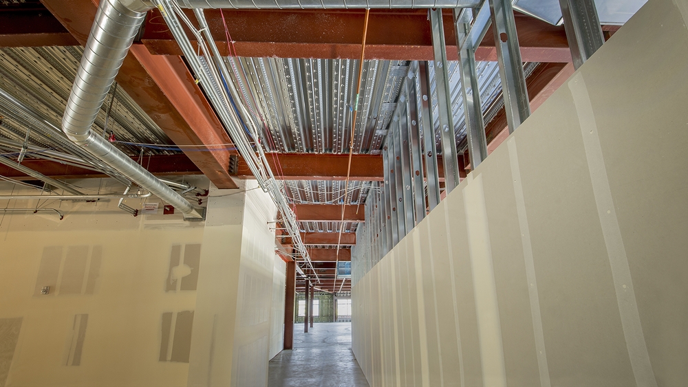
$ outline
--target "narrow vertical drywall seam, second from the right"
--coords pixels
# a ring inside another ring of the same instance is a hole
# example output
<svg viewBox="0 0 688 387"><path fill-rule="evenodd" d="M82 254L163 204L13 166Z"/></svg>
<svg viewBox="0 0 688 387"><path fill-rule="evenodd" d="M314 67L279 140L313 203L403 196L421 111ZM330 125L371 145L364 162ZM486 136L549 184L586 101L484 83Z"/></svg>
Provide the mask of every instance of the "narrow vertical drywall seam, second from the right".
<svg viewBox="0 0 688 387"><path fill-rule="evenodd" d="M511 177L514 183L516 196L516 212L518 214L519 229L521 231L521 243L523 245L523 257L526 263L526 279L528 280L528 298L530 299L530 317L533 318L533 333L535 335L535 351L537 353L537 368L540 372L540 385L550 387L550 371L547 366L547 353L545 351L545 336L542 331L542 317L540 315L540 300L537 295L537 280L535 279L535 262L533 261L533 245L530 242L530 229L528 228L528 214L526 214L526 201L523 196L523 184L521 181L521 169L518 165L518 153L516 151L516 139L511 137L508 142L509 160L511 164Z"/></svg>

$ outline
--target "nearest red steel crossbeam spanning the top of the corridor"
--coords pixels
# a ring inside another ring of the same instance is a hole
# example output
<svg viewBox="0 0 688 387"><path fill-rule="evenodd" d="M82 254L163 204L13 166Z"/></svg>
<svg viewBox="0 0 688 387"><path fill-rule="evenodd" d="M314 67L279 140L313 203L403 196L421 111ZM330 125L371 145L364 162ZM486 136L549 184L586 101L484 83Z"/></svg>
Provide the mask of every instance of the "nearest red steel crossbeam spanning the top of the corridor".
<svg viewBox="0 0 688 387"><path fill-rule="evenodd" d="M278 58L349 58L361 56L364 10L224 10L239 56ZM227 55L219 10L206 10L206 19L222 54ZM516 14L522 58L526 62L569 62L571 54L563 27ZM449 60L457 60L451 11L444 12L444 36ZM492 32L477 49L477 60L496 60ZM153 54L180 55L158 10L147 18L141 39ZM432 60L427 10L371 10L366 37L367 59Z"/></svg>

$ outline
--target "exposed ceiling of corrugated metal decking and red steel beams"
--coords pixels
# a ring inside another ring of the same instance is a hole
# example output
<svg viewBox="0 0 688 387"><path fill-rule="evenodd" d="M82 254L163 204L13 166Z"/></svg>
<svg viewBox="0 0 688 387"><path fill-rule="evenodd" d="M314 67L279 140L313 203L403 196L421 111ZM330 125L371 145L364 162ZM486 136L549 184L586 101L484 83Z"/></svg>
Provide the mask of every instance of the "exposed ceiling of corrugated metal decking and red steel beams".
<svg viewBox="0 0 688 387"><path fill-rule="evenodd" d="M572 72L566 34L557 25L561 11L557 16L546 7L552 2L558 0L515 2L517 10L530 15L516 14L516 26L531 109ZM610 15L604 16L608 24L619 25L625 21L620 14L632 14L643 2L614 8L619 2L609 0L598 1L598 6ZM89 0L0 1L0 157L21 161L52 179L124 179L58 129L83 54L80 45L86 42L96 9ZM279 190L296 214L299 238L312 261L303 264L303 272L317 274L322 289L349 291L350 280L337 276L335 266L350 261L355 232L365 221L366 200L380 190L376 182L384 175L381 153L398 105L407 98L402 82L410 78L414 61L430 60L429 93L431 101L438 99L427 10L370 12L350 168L363 10L226 9L205 14L240 91L240 103L259 128L257 141ZM464 177L470 162L449 10L443 19L451 114ZM607 37L618 28L614 25L603 26ZM508 135L493 34L485 35L475 58L488 148L493 148ZM237 188L235 179L254 178L252 170L238 155L236 139L230 138L186 59L160 10L149 11L92 130L153 175L204 174L219 188ZM441 154L437 104L431 109L434 151ZM57 153L83 162L69 162ZM11 166L0 166L0 176L36 180ZM282 235L280 229L278 250L286 259L293 258L292 236Z"/></svg>

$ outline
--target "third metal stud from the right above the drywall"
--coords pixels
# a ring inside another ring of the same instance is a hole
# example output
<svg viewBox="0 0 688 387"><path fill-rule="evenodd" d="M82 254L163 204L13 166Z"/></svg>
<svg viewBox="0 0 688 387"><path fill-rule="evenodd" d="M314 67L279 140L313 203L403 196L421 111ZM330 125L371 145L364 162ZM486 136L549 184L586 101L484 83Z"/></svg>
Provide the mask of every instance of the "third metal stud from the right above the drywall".
<svg viewBox="0 0 688 387"><path fill-rule="evenodd" d="M471 30L472 10L454 10L454 25L456 28L456 45L459 49L459 72L461 89L464 96L464 121L466 122L466 142L469 148L471 167L475 169L487 157L487 140L485 122L482 117L480 103L480 83L475 68L475 48L470 41L465 40Z"/></svg>

